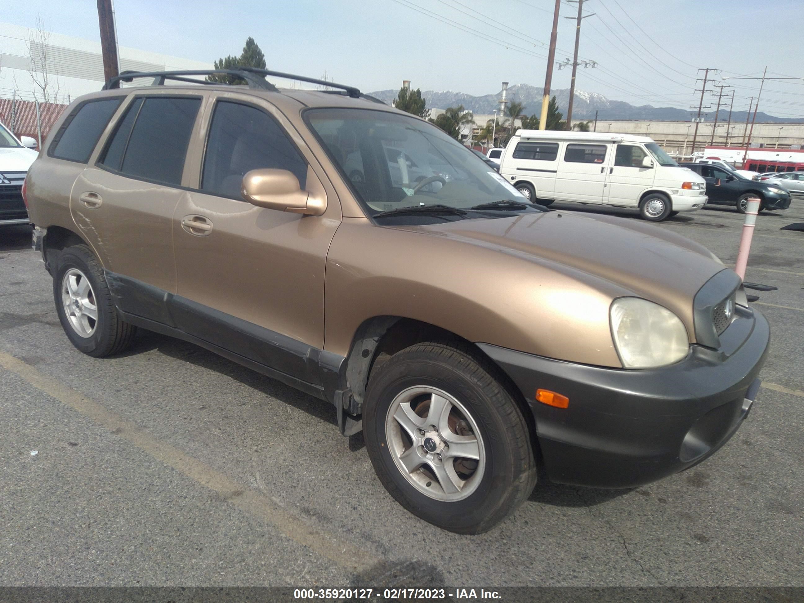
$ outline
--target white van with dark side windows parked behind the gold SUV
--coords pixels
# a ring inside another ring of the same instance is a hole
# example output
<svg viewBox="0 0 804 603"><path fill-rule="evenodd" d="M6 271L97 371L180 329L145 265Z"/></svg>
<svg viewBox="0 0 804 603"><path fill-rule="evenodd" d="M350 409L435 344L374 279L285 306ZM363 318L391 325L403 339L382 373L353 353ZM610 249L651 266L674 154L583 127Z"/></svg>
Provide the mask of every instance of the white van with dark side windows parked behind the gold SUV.
<svg viewBox="0 0 804 603"><path fill-rule="evenodd" d="M638 207L651 222L707 202L704 178L646 136L520 129L503 153L500 174L542 205Z"/></svg>

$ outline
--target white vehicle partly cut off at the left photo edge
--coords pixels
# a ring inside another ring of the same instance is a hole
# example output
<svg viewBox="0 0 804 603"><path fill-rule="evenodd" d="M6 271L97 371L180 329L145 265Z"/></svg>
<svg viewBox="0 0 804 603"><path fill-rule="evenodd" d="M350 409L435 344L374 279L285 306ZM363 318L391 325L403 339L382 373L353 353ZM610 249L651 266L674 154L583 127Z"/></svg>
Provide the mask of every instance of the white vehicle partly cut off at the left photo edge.
<svg viewBox="0 0 804 603"><path fill-rule="evenodd" d="M35 146L35 139L23 136L20 140L0 124L0 226L31 222L23 201L23 182L39 155L32 150Z"/></svg>

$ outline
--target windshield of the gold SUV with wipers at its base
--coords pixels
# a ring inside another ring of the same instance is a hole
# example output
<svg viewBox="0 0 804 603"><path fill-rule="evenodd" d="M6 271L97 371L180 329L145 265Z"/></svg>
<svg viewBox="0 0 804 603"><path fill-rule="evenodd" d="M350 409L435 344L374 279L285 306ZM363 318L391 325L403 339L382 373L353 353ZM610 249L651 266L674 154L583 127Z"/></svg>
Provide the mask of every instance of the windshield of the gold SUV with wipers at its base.
<svg viewBox="0 0 804 603"><path fill-rule="evenodd" d="M504 199L527 203L482 159L424 121L371 109L309 109L305 119L368 215L412 206L468 209Z"/></svg>

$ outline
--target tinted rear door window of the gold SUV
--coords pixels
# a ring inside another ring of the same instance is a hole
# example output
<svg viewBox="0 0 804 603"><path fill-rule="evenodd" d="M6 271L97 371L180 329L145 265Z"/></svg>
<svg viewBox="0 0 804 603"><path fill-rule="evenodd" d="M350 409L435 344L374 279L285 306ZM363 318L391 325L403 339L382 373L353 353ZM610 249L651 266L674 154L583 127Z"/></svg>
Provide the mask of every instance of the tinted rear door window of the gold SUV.
<svg viewBox="0 0 804 603"><path fill-rule="evenodd" d="M101 165L125 176L178 186L200 105L201 99L196 97L135 100L109 142Z"/></svg>

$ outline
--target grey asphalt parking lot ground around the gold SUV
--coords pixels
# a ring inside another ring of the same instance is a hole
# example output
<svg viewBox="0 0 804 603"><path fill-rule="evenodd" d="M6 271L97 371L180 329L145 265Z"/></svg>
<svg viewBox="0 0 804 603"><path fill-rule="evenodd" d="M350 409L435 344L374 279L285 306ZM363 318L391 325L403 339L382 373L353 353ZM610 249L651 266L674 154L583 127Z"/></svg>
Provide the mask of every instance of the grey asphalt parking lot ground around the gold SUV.
<svg viewBox="0 0 804 603"><path fill-rule="evenodd" d="M742 221L660 228L733 265ZM0 585L804 585L804 233L779 230L802 221L758 220L773 341L732 441L636 490L540 483L476 536L404 511L319 400L158 334L80 354L30 227L0 227Z"/></svg>

